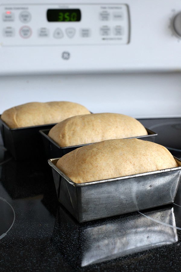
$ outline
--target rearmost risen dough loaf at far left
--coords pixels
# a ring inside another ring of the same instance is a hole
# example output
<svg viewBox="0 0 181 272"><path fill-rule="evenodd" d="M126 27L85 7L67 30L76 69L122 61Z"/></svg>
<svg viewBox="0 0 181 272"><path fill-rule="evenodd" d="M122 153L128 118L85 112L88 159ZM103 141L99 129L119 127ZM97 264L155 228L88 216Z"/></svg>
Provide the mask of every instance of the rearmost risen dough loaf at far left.
<svg viewBox="0 0 181 272"><path fill-rule="evenodd" d="M4 111L1 119L10 128L21 128L59 123L80 114L90 114L90 112L84 106L74 102L30 102Z"/></svg>

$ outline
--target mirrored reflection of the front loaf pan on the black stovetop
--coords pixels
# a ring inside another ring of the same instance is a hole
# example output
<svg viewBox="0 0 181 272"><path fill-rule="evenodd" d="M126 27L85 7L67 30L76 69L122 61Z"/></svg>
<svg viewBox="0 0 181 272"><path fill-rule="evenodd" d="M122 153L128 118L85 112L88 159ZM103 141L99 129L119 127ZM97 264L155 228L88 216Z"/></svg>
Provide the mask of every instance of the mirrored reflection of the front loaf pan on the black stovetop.
<svg viewBox="0 0 181 272"><path fill-rule="evenodd" d="M60 205L52 241L69 264L76 259L77 266L84 267L173 244L178 236L172 206L80 225ZM67 254L67 249L71 254Z"/></svg>

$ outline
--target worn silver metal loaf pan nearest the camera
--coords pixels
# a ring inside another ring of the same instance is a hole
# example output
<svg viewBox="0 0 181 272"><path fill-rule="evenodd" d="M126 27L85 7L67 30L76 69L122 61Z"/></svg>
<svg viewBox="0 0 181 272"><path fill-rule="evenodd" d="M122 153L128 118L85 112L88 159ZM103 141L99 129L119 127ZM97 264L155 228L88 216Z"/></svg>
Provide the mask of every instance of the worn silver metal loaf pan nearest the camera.
<svg viewBox="0 0 181 272"><path fill-rule="evenodd" d="M49 159L59 202L79 223L173 203L179 167L87 183L74 183Z"/></svg>

